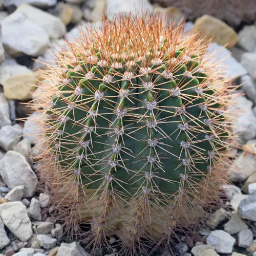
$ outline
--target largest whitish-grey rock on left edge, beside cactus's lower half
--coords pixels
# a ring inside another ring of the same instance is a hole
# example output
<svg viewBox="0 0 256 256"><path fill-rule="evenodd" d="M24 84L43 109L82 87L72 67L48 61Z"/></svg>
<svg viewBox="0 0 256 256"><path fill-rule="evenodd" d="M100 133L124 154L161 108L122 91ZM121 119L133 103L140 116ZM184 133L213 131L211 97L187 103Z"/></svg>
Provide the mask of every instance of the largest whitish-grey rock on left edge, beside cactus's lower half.
<svg viewBox="0 0 256 256"><path fill-rule="evenodd" d="M8 151L0 161L0 175L9 188L24 185L24 197L32 197L37 178L23 155Z"/></svg>

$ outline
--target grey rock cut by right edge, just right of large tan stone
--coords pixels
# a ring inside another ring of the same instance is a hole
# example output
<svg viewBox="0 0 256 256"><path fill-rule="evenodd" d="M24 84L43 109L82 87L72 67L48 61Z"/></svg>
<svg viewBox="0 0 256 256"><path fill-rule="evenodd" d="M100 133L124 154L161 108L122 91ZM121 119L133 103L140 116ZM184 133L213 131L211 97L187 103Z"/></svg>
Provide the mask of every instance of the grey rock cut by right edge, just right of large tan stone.
<svg viewBox="0 0 256 256"><path fill-rule="evenodd" d="M256 26L244 26L238 33L238 45L248 52L256 48Z"/></svg>

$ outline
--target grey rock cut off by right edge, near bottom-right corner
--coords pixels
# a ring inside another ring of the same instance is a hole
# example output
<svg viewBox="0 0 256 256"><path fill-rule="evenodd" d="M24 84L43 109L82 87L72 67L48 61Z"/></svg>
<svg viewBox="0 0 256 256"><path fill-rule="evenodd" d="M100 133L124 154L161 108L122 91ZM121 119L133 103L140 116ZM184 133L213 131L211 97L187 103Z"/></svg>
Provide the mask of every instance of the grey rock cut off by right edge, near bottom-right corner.
<svg viewBox="0 0 256 256"><path fill-rule="evenodd" d="M242 219L256 221L256 195L248 196L241 201L238 215Z"/></svg>

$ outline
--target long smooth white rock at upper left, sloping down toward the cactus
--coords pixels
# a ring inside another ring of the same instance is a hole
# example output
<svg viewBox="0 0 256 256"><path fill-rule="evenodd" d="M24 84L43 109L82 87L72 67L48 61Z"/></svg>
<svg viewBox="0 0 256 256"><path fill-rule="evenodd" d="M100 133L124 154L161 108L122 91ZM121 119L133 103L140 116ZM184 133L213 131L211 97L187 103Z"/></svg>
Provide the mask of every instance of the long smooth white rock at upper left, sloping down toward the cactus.
<svg viewBox="0 0 256 256"><path fill-rule="evenodd" d="M66 33L66 26L61 22L61 19L48 12L26 4L18 7L17 11L23 13L31 22L44 29L51 39L58 39Z"/></svg>

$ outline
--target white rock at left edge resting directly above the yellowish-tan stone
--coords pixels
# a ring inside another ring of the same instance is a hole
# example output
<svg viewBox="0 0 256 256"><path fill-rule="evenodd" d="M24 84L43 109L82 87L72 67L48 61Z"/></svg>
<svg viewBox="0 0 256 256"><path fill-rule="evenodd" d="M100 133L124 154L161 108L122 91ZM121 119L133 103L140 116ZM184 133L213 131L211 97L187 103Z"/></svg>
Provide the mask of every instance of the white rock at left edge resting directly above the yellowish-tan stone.
<svg viewBox="0 0 256 256"><path fill-rule="evenodd" d="M0 65L0 84L4 84L5 80L11 76L33 73L26 66L18 65L14 59L6 59Z"/></svg>

